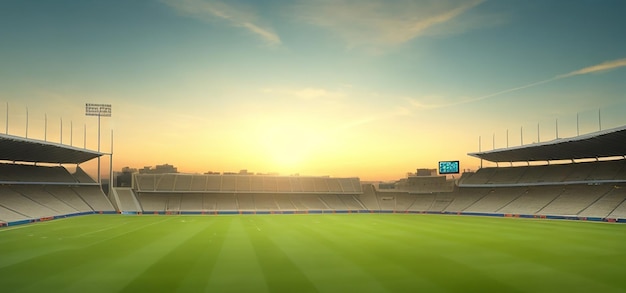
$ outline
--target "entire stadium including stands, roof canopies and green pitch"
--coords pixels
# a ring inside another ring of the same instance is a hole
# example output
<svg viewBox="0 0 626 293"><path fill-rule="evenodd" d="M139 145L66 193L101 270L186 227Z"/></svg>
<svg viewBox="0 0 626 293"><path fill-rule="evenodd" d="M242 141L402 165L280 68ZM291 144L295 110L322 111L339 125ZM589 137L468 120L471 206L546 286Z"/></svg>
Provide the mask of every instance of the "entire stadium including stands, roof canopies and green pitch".
<svg viewBox="0 0 626 293"><path fill-rule="evenodd" d="M623 292L625 146L617 127L469 153L498 166L392 188L146 172L103 188L80 165L107 154L0 134L0 280L9 292Z"/></svg>

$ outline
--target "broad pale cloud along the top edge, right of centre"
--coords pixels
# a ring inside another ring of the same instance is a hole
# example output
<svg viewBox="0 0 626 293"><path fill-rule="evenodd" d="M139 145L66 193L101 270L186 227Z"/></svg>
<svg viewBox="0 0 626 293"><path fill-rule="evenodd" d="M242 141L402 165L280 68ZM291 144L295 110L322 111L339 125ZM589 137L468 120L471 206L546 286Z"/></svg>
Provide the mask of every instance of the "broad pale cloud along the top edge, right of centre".
<svg viewBox="0 0 626 293"><path fill-rule="evenodd" d="M452 20L483 0L458 1L383 1L318 0L302 1L295 15L310 24L326 28L348 47L385 47L405 43L425 35L435 27L437 33L460 30ZM448 30L441 29L450 25ZM467 29L467 28L466 28Z"/></svg>

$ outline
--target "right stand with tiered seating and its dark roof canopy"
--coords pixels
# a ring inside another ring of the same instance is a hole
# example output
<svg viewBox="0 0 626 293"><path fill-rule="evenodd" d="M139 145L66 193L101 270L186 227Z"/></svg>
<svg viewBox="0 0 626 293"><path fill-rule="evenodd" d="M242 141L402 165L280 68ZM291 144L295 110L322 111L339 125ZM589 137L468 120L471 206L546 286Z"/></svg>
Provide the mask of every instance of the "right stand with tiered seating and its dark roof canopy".
<svg viewBox="0 0 626 293"><path fill-rule="evenodd" d="M626 126L574 138L470 153L470 156L497 163L545 161L548 164L489 167L464 174L459 181L459 195L468 191L479 195L486 188L490 191L467 207L453 206L453 201L452 207L447 209L539 216L615 217L619 213L615 211L625 199L620 188L626 183L625 154ZM550 164L551 161L560 163Z"/></svg>

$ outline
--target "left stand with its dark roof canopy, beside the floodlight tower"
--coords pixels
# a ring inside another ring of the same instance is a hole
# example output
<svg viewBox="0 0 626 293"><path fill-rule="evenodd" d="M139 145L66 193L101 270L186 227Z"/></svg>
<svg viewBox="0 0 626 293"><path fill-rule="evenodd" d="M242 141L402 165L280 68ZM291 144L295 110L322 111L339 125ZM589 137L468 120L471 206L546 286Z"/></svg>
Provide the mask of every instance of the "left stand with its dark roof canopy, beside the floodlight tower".
<svg viewBox="0 0 626 293"><path fill-rule="evenodd" d="M101 153L0 134L0 221L9 225L115 209L78 166ZM76 166L70 173L63 164Z"/></svg>

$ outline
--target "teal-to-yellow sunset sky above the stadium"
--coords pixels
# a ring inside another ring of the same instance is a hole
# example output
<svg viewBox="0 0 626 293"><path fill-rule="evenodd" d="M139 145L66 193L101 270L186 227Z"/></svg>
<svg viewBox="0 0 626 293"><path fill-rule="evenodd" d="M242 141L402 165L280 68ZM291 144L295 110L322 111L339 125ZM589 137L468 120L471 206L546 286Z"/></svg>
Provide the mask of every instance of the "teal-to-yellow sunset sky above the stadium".
<svg viewBox="0 0 626 293"><path fill-rule="evenodd" d="M96 150L85 103L104 103L114 170L475 170L467 153L626 125L625 12L621 0L1 0L0 131Z"/></svg>

